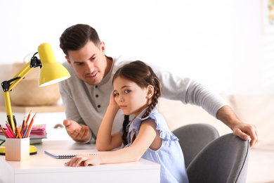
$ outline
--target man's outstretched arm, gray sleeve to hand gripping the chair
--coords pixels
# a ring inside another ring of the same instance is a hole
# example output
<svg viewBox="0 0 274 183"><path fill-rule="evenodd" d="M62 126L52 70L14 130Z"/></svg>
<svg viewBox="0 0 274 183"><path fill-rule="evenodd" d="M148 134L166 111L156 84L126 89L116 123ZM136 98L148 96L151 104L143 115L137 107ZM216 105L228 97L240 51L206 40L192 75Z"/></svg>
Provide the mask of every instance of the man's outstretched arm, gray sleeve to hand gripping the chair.
<svg viewBox="0 0 274 183"><path fill-rule="evenodd" d="M256 144L258 141L256 127L240 121L219 94L188 77L178 77L157 67L153 67L153 69L161 80L164 98L202 106L207 113L228 125L236 136L248 140L249 135L252 139L250 141L251 147Z"/></svg>

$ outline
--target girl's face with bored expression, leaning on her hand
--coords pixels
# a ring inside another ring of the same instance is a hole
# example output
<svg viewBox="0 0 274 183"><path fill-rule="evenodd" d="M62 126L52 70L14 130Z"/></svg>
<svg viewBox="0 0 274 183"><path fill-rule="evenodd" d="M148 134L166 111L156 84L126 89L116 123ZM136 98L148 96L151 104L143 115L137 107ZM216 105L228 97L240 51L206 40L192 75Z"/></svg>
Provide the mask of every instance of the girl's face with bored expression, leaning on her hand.
<svg viewBox="0 0 274 183"><path fill-rule="evenodd" d="M135 82L117 77L113 82L115 101L125 115L139 115L151 103L153 90L149 85L139 87Z"/></svg>

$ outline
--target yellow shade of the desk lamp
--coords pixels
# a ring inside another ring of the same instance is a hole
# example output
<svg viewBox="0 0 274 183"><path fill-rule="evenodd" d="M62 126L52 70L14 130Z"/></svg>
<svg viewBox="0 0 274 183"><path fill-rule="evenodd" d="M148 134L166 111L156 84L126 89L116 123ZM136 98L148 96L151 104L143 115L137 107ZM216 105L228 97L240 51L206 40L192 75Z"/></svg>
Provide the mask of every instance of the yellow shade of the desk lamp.
<svg viewBox="0 0 274 183"><path fill-rule="evenodd" d="M56 61L50 44L40 44L38 46L38 53L42 65L38 80L39 87L61 82L70 77L70 72Z"/></svg>

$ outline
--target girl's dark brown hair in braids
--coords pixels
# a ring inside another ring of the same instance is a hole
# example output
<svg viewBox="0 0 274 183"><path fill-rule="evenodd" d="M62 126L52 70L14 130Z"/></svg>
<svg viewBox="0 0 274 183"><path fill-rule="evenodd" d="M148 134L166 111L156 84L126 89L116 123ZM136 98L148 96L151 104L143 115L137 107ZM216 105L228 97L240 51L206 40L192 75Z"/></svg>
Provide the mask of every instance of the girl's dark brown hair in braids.
<svg viewBox="0 0 274 183"><path fill-rule="evenodd" d="M133 61L131 63L124 65L122 68L119 68L115 72L115 75L112 79L112 84L117 77L122 77L126 80L130 80L131 82L135 82L141 88L148 87L148 85L152 85L152 87L154 87L152 103L150 103L147 111L145 111L145 113L142 116L142 118L147 117L157 105L159 96L161 96L162 94L162 84L161 82L159 82L159 78L155 75L155 72L153 72L150 66L146 65L142 61ZM128 124L129 124L129 115L124 115L123 134L122 134L124 145L127 144L126 126ZM134 139L135 138L133 137L133 140Z"/></svg>

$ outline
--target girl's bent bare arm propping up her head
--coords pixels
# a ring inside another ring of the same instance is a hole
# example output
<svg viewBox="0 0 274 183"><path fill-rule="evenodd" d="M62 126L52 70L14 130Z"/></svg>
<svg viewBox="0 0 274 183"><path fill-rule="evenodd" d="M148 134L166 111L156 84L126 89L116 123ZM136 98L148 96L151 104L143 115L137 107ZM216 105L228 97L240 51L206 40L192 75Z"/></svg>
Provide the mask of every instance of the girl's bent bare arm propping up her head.
<svg viewBox="0 0 274 183"><path fill-rule="evenodd" d="M119 110L119 106L115 102L114 93L110 95L110 105L107 107L107 111L100 125L97 139L96 139L96 149L98 151L109 151L115 149L122 144L122 136L120 132L111 134L112 124L115 120L115 115Z"/></svg>

